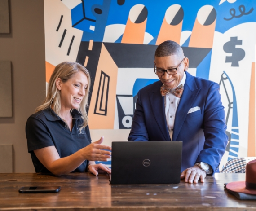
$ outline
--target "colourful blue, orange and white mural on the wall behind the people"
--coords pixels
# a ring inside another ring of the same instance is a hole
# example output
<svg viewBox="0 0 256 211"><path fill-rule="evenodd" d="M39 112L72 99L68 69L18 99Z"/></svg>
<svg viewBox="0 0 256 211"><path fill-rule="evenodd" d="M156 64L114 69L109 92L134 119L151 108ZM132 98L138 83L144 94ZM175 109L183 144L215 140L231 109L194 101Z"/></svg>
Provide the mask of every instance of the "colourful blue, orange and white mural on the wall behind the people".
<svg viewBox="0 0 256 211"><path fill-rule="evenodd" d="M229 143L221 161L255 156L254 0L44 0L46 83L62 61L93 86L90 129L131 128L137 92L158 80L154 51L181 45L190 74L220 84Z"/></svg>

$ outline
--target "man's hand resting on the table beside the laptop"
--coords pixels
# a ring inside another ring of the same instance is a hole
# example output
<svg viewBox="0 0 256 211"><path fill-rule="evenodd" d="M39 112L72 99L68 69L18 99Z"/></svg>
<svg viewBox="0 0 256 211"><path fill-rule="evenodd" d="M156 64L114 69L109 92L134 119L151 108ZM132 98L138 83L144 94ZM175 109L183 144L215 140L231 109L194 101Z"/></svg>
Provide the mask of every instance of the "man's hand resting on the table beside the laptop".
<svg viewBox="0 0 256 211"><path fill-rule="evenodd" d="M185 178L185 182L189 183L197 183L199 178L201 179L201 182L204 182L205 177L205 171L201 170L198 166L187 168L185 171L181 173L181 179Z"/></svg>

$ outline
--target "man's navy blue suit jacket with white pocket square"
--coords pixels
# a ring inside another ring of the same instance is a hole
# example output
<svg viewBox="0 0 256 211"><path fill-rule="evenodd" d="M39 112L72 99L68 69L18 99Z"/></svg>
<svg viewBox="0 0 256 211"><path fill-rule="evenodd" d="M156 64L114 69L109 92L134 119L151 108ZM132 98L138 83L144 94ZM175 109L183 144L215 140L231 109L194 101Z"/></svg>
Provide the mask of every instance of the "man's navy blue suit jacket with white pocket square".
<svg viewBox="0 0 256 211"><path fill-rule="evenodd" d="M172 141L183 141L181 172L194 163L205 162L218 171L228 142L225 134L225 111L221 103L219 85L186 74L184 91L179 102ZM171 141L165 118L161 81L138 92L136 110L128 141ZM200 110L188 114L190 108Z"/></svg>

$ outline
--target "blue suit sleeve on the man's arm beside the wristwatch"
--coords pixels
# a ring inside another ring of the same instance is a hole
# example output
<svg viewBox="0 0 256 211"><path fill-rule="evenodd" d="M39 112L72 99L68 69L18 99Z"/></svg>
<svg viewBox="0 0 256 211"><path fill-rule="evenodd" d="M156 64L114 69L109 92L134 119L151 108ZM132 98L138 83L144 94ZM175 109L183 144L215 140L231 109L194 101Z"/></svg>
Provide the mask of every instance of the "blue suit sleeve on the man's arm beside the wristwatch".
<svg viewBox="0 0 256 211"><path fill-rule="evenodd" d="M228 143L224 106L221 103L219 85L214 83L209 88L205 102L203 133L205 142L197 162L203 161L212 167L212 174L217 170Z"/></svg>

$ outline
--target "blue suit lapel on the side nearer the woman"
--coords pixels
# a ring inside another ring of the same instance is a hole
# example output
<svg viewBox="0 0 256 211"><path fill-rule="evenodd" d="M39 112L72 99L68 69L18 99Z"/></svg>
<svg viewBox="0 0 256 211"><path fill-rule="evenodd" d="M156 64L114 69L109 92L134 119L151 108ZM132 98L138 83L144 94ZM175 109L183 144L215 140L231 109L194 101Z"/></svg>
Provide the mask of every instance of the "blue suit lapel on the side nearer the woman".
<svg viewBox="0 0 256 211"><path fill-rule="evenodd" d="M165 140L171 141L165 118L164 97L162 97L160 94L160 87L162 83L160 82L158 84L160 84L159 88L154 88L151 92L149 92L151 110L154 114L154 119L156 120L159 128L161 129L161 132L163 133Z"/></svg>

